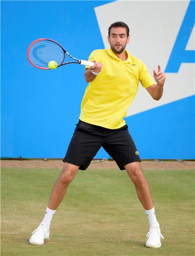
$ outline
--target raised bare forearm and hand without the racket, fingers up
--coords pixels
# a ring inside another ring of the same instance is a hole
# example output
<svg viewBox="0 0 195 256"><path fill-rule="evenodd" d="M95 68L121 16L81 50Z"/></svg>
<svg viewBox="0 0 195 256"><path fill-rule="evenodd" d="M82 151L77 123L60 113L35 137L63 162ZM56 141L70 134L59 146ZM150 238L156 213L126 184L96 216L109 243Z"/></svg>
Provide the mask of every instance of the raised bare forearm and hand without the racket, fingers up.
<svg viewBox="0 0 195 256"><path fill-rule="evenodd" d="M152 96L152 98L156 101L158 101L163 94L163 87L165 83L166 76L163 72L161 72L161 67L158 65L158 72L153 70L154 73L154 79L157 82L157 84L153 84L150 87L146 88L146 90L149 92L149 94Z"/></svg>

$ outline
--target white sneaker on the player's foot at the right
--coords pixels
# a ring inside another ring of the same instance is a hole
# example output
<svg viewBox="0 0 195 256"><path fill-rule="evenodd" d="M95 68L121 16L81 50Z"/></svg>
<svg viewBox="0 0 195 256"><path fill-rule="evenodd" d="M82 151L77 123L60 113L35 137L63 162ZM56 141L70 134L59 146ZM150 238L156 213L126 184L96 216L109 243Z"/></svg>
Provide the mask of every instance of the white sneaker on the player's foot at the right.
<svg viewBox="0 0 195 256"><path fill-rule="evenodd" d="M150 248L159 248L161 247L161 238L164 239L161 234L160 227L151 226L150 231L147 233L146 246Z"/></svg>

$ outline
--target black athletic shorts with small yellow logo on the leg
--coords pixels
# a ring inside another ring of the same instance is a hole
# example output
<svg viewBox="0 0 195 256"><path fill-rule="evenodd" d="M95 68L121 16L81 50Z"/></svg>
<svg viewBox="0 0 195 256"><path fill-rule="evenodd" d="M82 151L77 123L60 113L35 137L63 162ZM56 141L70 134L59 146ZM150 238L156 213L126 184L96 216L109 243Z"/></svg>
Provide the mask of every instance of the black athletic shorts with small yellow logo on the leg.
<svg viewBox="0 0 195 256"><path fill-rule="evenodd" d="M63 162L85 170L101 146L121 170L128 163L140 162L139 153L127 128L124 125L118 129L108 129L79 120Z"/></svg>

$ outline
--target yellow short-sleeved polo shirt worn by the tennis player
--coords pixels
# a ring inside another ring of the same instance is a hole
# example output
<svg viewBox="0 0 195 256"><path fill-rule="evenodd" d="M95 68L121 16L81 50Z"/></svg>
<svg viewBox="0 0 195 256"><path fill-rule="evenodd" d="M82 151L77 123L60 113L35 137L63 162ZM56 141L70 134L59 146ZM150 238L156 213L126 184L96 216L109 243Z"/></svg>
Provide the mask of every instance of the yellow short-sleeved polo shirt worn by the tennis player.
<svg viewBox="0 0 195 256"><path fill-rule="evenodd" d="M124 117L138 90L155 82L146 66L126 50L127 60L120 60L112 49L99 49L90 54L89 61L96 60L103 68L85 90L79 119L109 129L125 125ZM86 67L89 68L89 67Z"/></svg>

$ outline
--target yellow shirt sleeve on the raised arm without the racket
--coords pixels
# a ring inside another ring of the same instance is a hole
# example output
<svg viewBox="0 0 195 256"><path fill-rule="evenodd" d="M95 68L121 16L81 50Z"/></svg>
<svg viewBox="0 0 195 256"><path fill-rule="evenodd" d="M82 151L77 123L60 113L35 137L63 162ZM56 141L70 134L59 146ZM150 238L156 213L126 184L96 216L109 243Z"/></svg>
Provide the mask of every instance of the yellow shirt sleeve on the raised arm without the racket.
<svg viewBox="0 0 195 256"><path fill-rule="evenodd" d="M146 65L139 60L139 81L142 84L142 87L147 88L155 84L154 79L148 72Z"/></svg>

